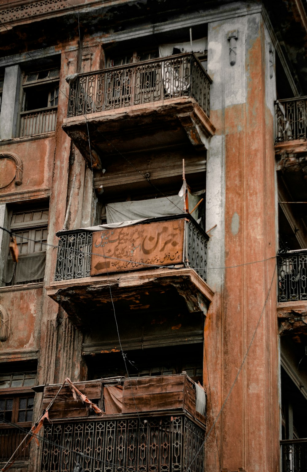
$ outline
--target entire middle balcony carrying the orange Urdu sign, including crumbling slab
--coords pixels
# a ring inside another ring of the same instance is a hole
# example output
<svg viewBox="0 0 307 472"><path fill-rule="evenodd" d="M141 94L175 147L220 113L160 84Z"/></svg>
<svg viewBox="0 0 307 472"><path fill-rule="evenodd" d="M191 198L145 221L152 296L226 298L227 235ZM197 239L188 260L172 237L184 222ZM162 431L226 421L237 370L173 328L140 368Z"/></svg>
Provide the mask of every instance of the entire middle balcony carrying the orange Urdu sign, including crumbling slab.
<svg viewBox="0 0 307 472"><path fill-rule="evenodd" d="M184 299L189 312L205 312L212 300L205 283L208 236L188 214L58 236L55 281L47 293L76 325L91 313L112 312L113 303L131 313L149 306L161 311L161 304L171 309Z"/></svg>

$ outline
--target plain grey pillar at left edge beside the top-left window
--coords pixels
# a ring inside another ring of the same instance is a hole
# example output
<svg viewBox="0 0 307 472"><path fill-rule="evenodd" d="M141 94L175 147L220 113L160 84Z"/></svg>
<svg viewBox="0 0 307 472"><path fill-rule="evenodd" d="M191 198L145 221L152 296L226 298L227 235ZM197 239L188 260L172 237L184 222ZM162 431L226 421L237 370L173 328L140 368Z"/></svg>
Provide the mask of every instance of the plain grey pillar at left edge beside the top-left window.
<svg viewBox="0 0 307 472"><path fill-rule="evenodd" d="M18 65L5 68L0 112L1 140L16 137L16 128L20 112L20 80L21 70Z"/></svg>

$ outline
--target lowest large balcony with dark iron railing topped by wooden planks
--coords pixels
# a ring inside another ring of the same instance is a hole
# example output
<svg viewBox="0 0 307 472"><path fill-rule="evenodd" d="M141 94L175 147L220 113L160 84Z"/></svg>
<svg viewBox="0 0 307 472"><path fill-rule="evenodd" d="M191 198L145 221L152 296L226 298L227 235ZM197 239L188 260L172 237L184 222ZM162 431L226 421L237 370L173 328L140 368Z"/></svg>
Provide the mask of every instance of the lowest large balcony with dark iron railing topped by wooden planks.
<svg viewBox="0 0 307 472"><path fill-rule="evenodd" d="M65 386L49 412L52 423L44 425L41 472L72 471L76 462L88 472L204 470L205 417L187 375L75 385L108 413L88 416ZM44 388L43 408L59 388ZM110 401L114 389L121 392L117 405Z"/></svg>

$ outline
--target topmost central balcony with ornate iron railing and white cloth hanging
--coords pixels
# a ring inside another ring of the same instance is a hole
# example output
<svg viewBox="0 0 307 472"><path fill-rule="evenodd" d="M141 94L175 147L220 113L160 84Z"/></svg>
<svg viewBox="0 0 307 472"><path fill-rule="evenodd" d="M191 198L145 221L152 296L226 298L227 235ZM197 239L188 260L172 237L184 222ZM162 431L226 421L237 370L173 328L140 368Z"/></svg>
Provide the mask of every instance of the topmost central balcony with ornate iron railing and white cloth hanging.
<svg viewBox="0 0 307 472"><path fill-rule="evenodd" d="M207 148L215 131L209 120L211 83L188 53L79 74L70 83L62 127L96 169L104 166L101 156L144 146Z"/></svg>

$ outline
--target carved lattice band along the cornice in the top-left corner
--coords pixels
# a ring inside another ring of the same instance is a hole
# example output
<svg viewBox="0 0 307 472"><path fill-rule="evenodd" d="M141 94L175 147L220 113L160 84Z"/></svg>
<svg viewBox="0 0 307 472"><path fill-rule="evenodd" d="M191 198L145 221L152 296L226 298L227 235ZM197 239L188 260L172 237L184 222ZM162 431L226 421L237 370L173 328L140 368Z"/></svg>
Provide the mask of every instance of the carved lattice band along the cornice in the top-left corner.
<svg viewBox="0 0 307 472"><path fill-rule="evenodd" d="M43 0L33 3L22 3L12 8L0 10L0 23L24 20L27 17L44 15L62 8L68 8L68 4L65 0Z"/></svg>

